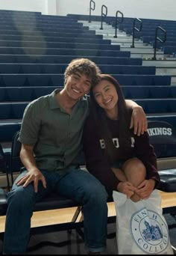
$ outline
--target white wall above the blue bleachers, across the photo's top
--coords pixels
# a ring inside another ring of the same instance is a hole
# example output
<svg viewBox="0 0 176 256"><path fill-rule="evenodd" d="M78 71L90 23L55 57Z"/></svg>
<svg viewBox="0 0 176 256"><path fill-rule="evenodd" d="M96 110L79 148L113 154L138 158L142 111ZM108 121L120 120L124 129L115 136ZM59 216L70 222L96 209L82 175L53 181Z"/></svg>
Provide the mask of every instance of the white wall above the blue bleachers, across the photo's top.
<svg viewBox="0 0 176 256"><path fill-rule="evenodd" d="M102 4L107 6L108 16L116 10L124 16L150 19L176 20L176 0L94 0L92 15L101 15ZM0 0L2 10L40 11L43 14L62 15L68 13L89 15L89 0Z"/></svg>

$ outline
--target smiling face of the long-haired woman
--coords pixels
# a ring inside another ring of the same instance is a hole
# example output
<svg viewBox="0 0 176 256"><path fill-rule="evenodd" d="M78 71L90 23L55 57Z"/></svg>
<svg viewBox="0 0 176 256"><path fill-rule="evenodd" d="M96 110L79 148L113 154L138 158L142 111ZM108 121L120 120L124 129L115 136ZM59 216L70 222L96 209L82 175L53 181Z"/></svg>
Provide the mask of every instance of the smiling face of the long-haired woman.
<svg viewBox="0 0 176 256"><path fill-rule="evenodd" d="M110 111L116 109L118 102L118 94L115 86L107 81L102 80L95 85L95 88L92 89L95 101L101 106L105 111Z"/></svg>

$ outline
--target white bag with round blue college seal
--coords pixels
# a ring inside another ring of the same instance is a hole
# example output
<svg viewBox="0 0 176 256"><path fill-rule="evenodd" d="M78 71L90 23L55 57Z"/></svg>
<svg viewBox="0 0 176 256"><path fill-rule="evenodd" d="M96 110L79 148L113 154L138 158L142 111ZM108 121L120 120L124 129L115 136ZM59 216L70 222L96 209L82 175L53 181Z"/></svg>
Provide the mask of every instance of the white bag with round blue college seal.
<svg viewBox="0 0 176 256"><path fill-rule="evenodd" d="M173 255L169 229L155 189L138 202L113 191L116 207L116 241L119 255Z"/></svg>

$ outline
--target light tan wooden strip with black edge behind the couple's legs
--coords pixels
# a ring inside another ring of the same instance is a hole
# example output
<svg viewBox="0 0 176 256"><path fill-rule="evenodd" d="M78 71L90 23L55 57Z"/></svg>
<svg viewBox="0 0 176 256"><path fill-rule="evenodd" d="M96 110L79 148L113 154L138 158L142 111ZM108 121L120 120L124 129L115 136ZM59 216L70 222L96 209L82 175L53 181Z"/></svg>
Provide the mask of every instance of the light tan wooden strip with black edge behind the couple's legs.
<svg viewBox="0 0 176 256"><path fill-rule="evenodd" d="M162 198L161 206L163 207L163 213L176 213L176 192L159 192ZM107 206L108 223L115 223L116 208L113 201L107 202ZM1 240L3 240L4 237L5 218L5 215L0 216ZM31 234L48 234L50 232L53 233L54 231L63 230L71 231L74 228L78 231L78 234L80 234L81 237L84 237L84 233L81 230L81 228L83 228L83 224L84 218L80 206L36 211L31 218ZM113 234L113 237L114 235L116 234ZM173 246L172 248L176 253L176 249Z"/></svg>

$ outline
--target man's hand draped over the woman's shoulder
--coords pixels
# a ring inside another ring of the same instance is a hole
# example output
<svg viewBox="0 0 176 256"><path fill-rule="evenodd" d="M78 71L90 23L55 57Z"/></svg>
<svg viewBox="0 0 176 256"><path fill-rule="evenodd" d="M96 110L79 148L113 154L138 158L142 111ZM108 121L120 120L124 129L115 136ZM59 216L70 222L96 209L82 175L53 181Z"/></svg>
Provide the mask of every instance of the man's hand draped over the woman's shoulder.
<svg viewBox="0 0 176 256"><path fill-rule="evenodd" d="M147 131L147 126L148 126L147 118L142 107L141 106L133 107L130 129L133 128L133 133L139 136Z"/></svg>

